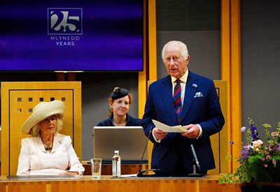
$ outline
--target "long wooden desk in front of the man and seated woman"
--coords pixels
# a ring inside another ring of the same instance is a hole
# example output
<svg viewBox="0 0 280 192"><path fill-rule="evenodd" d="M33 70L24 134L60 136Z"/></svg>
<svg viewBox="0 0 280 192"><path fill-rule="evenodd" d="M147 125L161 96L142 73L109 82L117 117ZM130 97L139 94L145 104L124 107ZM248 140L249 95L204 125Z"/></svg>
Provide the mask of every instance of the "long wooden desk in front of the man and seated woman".
<svg viewBox="0 0 280 192"><path fill-rule="evenodd" d="M206 179L186 178L125 178L111 179L111 176L102 176L101 179L92 179L83 176L80 179L49 180L49 181L11 181L1 177L0 191L12 192L57 192L57 191L97 191L97 192L181 192L181 191L218 191L240 192L240 184L218 184L219 175L209 175Z"/></svg>

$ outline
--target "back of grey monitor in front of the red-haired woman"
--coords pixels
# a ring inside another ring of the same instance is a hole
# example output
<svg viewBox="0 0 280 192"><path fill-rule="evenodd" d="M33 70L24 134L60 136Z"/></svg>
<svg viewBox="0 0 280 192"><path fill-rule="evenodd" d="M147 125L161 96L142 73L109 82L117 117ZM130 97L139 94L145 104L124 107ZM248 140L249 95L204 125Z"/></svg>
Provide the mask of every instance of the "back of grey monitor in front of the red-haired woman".
<svg viewBox="0 0 280 192"><path fill-rule="evenodd" d="M122 162L139 163L147 140L141 126L94 126L94 158L102 158L102 163L111 162L114 151L118 150ZM148 160L147 151L144 161Z"/></svg>

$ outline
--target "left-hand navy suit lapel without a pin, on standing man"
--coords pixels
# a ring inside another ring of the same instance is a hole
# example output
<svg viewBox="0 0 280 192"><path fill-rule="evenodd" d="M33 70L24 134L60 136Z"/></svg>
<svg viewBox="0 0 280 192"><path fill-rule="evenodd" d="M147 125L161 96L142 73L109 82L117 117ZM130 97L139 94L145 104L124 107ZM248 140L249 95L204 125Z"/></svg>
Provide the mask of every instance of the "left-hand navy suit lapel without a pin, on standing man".
<svg viewBox="0 0 280 192"><path fill-rule="evenodd" d="M166 112L169 113L170 117L172 118L172 121L177 121L176 115L174 112L174 106L173 106L173 96L172 96L172 82L171 77L168 75L165 80L162 82L163 89L162 89L162 101L165 103ZM172 109L172 110L170 110Z"/></svg>

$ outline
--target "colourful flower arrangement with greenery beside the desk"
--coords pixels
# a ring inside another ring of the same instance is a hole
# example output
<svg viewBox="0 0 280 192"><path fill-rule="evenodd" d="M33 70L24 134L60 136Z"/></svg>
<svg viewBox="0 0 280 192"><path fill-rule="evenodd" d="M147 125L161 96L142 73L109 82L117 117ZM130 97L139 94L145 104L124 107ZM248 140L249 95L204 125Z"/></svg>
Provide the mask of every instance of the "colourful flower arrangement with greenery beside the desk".
<svg viewBox="0 0 280 192"><path fill-rule="evenodd" d="M242 127L241 132L246 133L246 144L241 146L241 154L237 161L240 165L235 173L221 177L219 183L234 182L279 182L280 181L280 122L276 132L270 133L272 128L264 124L266 142L262 141L249 118L250 128ZM230 145L235 145L230 141ZM228 159L232 156L228 155Z"/></svg>

